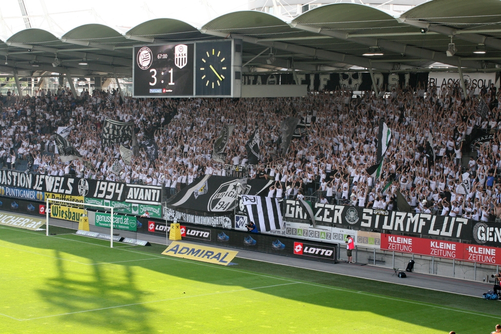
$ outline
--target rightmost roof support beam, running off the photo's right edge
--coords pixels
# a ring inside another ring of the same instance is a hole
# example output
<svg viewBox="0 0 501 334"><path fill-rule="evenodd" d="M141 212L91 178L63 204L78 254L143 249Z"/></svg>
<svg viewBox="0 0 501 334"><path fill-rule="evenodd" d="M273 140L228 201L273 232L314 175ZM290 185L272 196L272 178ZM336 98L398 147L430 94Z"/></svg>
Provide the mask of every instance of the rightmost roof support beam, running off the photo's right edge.
<svg viewBox="0 0 501 334"><path fill-rule="evenodd" d="M446 26L432 25L429 22L406 19L405 17L399 17L397 18L397 21L412 27L424 28L428 31L437 32L442 35L454 36L459 40L464 40L476 44L485 44L485 46L487 47L501 50L501 40L498 40L494 37L487 37L476 33L470 33L468 30L456 30Z"/></svg>

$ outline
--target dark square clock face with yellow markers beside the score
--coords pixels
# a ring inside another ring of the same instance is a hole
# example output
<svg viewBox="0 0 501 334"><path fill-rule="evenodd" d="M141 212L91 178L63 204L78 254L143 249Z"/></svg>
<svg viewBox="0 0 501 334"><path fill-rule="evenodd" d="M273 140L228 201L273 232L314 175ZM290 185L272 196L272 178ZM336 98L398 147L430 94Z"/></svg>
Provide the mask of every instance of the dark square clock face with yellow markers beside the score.
<svg viewBox="0 0 501 334"><path fill-rule="evenodd" d="M232 94L232 42L197 43L196 95Z"/></svg>

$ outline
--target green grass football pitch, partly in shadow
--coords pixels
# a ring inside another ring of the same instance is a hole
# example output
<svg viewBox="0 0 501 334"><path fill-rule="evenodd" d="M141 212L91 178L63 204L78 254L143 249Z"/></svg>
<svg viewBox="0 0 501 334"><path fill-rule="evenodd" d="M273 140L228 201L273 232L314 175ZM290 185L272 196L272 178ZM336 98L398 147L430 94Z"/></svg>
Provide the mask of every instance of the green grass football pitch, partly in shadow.
<svg viewBox="0 0 501 334"><path fill-rule="evenodd" d="M0 227L0 333L489 333L501 303Z"/></svg>

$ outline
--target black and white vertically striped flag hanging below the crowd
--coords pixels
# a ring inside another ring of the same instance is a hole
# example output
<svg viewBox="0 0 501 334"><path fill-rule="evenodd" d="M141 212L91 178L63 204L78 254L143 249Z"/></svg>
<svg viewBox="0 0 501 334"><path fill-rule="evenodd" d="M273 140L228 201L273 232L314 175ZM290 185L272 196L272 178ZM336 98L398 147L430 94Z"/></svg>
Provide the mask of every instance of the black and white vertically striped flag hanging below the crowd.
<svg viewBox="0 0 501 334"><path fill-rule="evenodd" d="M242 204L248 219L256 224L258 231L264 232L282 228L282 212L278 199L242 195Z"/></svg>

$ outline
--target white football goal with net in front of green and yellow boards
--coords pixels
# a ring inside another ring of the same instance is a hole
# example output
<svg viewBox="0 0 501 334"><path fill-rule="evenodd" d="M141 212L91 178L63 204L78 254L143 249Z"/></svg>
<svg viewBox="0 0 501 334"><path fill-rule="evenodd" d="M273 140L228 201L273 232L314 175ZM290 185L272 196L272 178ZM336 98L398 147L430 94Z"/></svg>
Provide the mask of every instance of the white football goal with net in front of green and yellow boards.
<svg viewBox="0 0 501 334"><path fill-rule="evenodd" d="M112 206L47 199L45 211L46 235L80 234L109 240L110 247L137 240L136 217L117 214Z"/></svg>

